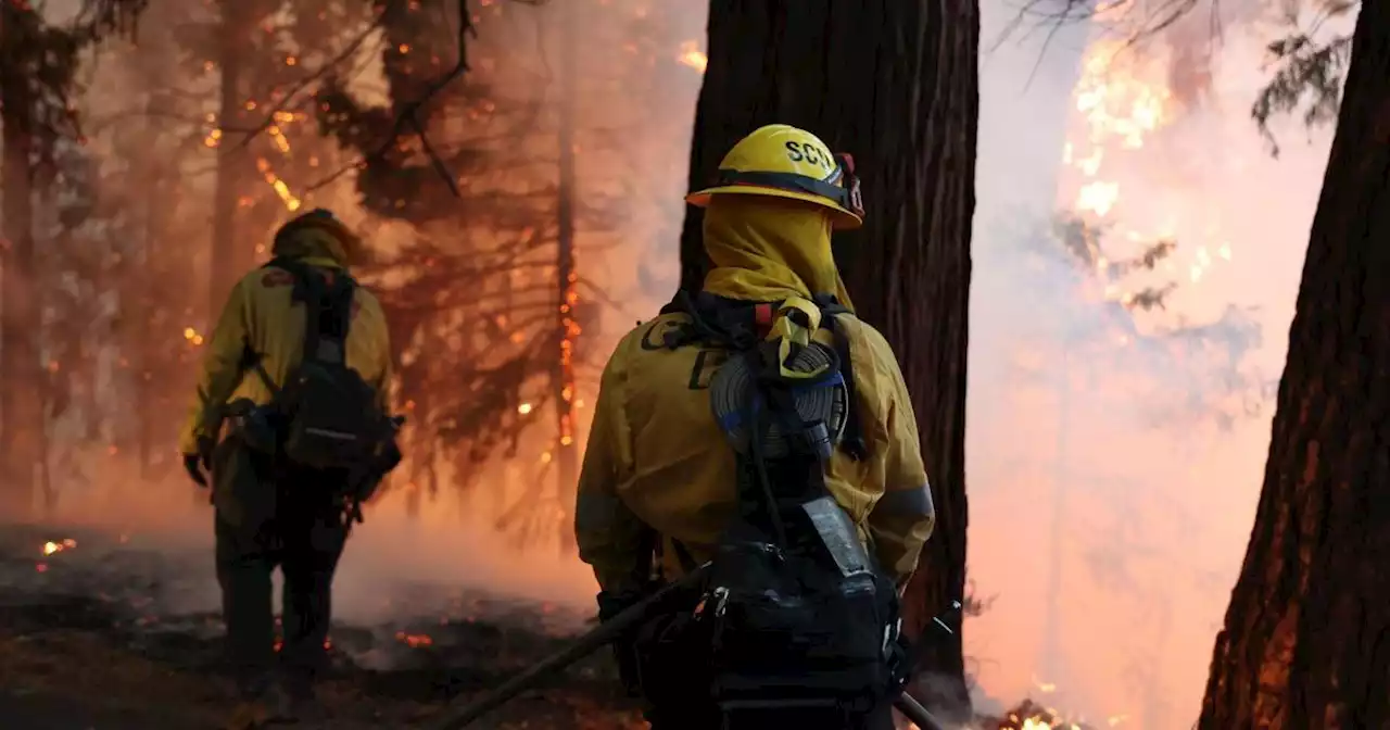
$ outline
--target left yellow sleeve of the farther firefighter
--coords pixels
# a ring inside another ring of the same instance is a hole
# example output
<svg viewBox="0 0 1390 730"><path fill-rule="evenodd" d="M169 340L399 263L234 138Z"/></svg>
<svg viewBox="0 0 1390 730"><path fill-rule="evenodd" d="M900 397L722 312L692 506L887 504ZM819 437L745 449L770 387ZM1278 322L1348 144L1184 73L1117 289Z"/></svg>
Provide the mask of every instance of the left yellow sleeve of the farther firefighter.
<svg viewBox="0 0 1390 730"><path fill-rule="evenodd" d="M232 293L222 307L222 314L217 320L217 327L207 341L203 368L197 378L197 392L179 434L182 453L196 453L200 437L215 437L213 430L220 425L217 412L227 405L227 399L236 392L236 387L242 382L242 356L245 355L250 314L245 281L236 282L236 286L232 288Z"/></svg>

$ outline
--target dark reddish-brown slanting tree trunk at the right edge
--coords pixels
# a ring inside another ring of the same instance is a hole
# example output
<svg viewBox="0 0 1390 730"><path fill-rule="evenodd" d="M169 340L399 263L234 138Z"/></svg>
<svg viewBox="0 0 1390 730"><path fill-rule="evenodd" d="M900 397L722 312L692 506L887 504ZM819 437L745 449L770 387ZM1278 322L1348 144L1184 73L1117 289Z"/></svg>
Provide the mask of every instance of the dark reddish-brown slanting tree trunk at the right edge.
<svg viewBox="0 0 1390 730"><path fill-rule="evenodd" d="M1390 3L1366 0L1198 726L1390 727Z"/></svg>

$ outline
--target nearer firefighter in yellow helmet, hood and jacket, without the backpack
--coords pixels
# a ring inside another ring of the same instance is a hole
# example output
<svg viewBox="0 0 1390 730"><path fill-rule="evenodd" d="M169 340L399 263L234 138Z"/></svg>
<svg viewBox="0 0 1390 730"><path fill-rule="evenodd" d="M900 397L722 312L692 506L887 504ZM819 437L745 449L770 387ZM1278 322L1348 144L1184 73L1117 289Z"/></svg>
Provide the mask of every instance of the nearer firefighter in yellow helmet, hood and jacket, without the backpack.
<svg viewBox="0 0 1390 730"><path fill-rule="evenodd" d="M719 175L714 186L687 197L705 207L713 268L703 291L741 302L833 293L852 311L830 248L833 229L862 224L852 170L815 135L770 125L738 142ZM851 407L865 457L837 449L824 482L902 587L934 523L916 419L883 335L852 313L835 318L849 342ZM575 505L580 558L594 569L600 601L642 591L653 552L666 581L709 560L737 509L735 455L712 416L708 389L699 388L709 381L706 353L656 346L688 321L670 313L638 325L602 375Z"/></svg>

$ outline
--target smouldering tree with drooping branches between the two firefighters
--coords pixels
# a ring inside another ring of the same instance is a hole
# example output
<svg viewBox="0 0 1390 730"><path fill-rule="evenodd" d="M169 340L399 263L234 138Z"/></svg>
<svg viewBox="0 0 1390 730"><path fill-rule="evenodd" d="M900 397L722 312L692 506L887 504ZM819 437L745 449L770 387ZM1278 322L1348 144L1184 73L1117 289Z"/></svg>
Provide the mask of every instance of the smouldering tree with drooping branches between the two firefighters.
<svg viewBox="0 0 1390 730"><path fill-rule="evenodd" d="M594 108L632 71L580 57L573 36L581 10L620 21L630 6L379 4L389 104L359 102L342 79L318 95L322 128L360 154L357 190L382 238L402 234L363 271L392 323L411 419L404 485L418 503L524 453L507 469L528 473L507 481L528 488L489 492L509 499L499 526L528 542L571 531L578 412L602 355L585 343L609 300L585 273L617 243L634 182L582 168L623 133Z"/></svg>

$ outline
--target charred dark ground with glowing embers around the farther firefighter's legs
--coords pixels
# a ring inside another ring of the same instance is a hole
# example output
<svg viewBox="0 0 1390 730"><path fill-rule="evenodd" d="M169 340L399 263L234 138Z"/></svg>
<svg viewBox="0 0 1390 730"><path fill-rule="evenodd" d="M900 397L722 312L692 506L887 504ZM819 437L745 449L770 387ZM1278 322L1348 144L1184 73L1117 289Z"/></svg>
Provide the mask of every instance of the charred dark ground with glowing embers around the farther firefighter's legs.
<svg viewBox="0 0 1390 730"><path fill-rule="evenodd" d="M587 623L557 606L431 585L392 587L391 603L389 619L332 628L334 672L324 688L332 727L409 727L562 648ZM188 686L170 701L211 712L229 701L214 609L206 546L171 551L138 535L0 530L0 724L15 681L26 687L22 694L120 694L99 669L125 660L142 662L161 684ZM39 665L54 676L44 677ZM634 726L614 687L606 658L594 656L480 727ZM204 726L188 716L182 724L165 717L161 727Z"/></svg>

